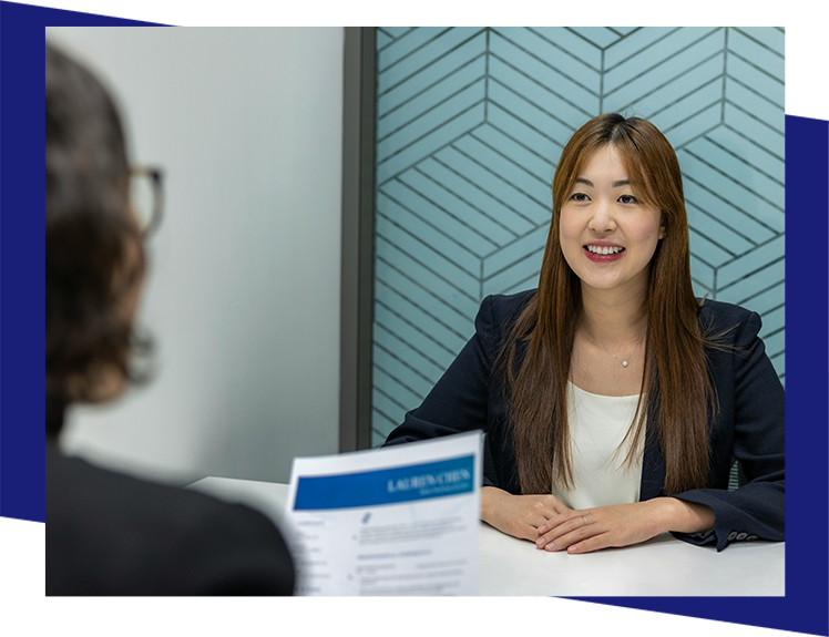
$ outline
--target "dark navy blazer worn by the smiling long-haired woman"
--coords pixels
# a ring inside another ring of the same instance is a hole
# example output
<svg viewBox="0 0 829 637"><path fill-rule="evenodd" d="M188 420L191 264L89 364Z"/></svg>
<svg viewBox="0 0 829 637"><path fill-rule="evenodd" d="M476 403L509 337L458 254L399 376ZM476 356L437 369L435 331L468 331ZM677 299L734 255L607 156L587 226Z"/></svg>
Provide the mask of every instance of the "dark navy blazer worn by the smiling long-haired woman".
<svg viewBox="0 0 829 637"><path fill-rule="evenodd" d="M483 299L475 317L475 335L427 395L406 414L386 444L424 440L462 431L487 432L498 486L519 494L515 452L506 427L501 379L492 366L513 321L535 290ZM715 543L721 551L744 540L782 541L785 531L785 394L758 338L760 317L738 306L706 300L699 315L704 333L725 335L718 342L731 349L706 349L719 399L710 423L710 489L675 497L712 507L714 528L706 533L675 533L692 544ZM748 483L728 491L731 458L743 465ZM665 463L655 436L648 435L643 459L641 500L664 495Z"/></svg>

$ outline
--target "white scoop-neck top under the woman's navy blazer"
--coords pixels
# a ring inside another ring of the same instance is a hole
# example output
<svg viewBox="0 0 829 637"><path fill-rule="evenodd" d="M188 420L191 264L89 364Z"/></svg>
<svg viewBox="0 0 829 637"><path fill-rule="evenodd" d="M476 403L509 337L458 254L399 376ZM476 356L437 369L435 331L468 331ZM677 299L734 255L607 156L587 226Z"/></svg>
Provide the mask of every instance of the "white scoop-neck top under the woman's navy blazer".
<svg viewBox="0 0 829 637"><path fill-rule="evenodd" d="M624 462L627 443L620 449L631 429L638 394L600 395L570 381L567 389L574 486L569 491L553 489L553 495L571 508L638 502L645 436L630 468Z"/></svg>

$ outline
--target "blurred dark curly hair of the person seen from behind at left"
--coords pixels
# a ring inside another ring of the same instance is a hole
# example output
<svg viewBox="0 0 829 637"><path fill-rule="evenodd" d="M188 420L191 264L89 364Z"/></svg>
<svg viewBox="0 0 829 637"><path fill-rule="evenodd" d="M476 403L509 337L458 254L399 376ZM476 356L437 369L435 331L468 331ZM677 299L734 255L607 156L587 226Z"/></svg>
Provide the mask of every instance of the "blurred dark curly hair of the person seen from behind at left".
<svg viewBox="0 0 829 637"><path fill-rule="evenodd" d="M144 254L112 99L49 43L45 73L47 433L57 434L68 404L98 400L106 374L130 377L132 311L124 306Z"/></svg>

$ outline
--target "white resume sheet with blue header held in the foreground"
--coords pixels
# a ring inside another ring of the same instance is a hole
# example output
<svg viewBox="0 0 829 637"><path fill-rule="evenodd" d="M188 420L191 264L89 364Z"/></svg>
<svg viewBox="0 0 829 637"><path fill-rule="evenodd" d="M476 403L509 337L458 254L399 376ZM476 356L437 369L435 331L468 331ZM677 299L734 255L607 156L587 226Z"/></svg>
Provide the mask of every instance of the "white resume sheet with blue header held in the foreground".
<svg viewBox="0 0 829 637"><path fill-rule="evenodd" d="M480 431L295 459L296 600L478 597L482 462Z"/></svg>

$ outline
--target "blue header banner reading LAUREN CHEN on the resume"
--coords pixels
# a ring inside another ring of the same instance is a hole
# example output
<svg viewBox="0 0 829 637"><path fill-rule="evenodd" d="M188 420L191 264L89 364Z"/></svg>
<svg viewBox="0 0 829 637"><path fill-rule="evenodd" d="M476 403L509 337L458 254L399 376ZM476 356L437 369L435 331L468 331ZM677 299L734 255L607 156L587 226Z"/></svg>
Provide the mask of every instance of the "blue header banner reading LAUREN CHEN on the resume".
<svg viewBox="0 0 829 637"><path fill-rule="evenodd" d="M474 490L474 456L361 473L300 477L294 510L349 508L458 495Z"/></svg>

